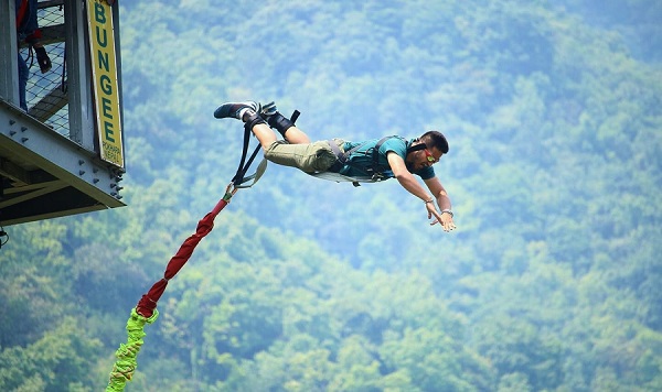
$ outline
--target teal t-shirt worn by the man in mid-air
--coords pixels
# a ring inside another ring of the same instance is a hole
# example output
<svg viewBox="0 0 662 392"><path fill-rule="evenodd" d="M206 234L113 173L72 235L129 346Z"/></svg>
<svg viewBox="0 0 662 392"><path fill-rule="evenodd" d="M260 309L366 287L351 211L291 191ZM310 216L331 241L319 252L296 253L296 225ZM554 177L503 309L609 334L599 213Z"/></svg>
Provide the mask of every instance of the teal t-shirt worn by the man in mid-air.
<svg viewBox="0 0 662 392"><path fill-rule="evenodd" d="M350 177L372 176L372 173L369 168L373 166L373 150L380 140L381 139L373 139L364 142L345 142L343 145L343 150L345 152L349 152L356 146L359 146L359 149L350 153L348 162L340 170L340 174ZM377 155L377 162L378 171L382 172L384 178L394 177L393 171L391 171L391 166L388 165L386 154L389 151L393 151L403 160L405 160L407 156L407 146L410 145L412 142L414 142L414 139L407 142L404 138L391 137L382 143ZM419 171L413 172L413 174L418 175L423 179L429 179L435 176L435 170L431 166L424 167Z"/></svg>

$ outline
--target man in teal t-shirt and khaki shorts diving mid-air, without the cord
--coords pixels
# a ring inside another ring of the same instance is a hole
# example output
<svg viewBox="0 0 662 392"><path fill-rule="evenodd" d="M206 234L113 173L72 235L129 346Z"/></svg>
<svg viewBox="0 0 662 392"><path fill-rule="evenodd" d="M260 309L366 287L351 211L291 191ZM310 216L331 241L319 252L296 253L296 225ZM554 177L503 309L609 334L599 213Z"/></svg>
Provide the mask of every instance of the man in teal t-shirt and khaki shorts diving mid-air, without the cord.
<svg viewBox="0 0 662 392"><path fill-rule="evenodd" d="M243 121L246 132L257 138L269 162L325 179L349 181L355 186L396 178L403 188L425 203L428 219L434 217L430 225L440 224L445 231L456 229L450 198L433 167L448 153L444 134L428 131L410 140L392 135L363 142L342 139L311 142L295 124L298 116L295 111L288 119L274 102L263 106L256 101L226 102L214 112L217 119ZM279 140L271 128L284 139ZM414 175L424 181L431 196Z"/></svg>

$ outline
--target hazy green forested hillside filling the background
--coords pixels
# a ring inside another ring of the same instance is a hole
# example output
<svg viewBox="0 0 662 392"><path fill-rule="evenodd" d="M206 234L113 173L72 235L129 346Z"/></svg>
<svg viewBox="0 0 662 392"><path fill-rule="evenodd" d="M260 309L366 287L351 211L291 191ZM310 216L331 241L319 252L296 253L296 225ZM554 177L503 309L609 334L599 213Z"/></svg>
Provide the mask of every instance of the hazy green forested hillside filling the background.
<svg viewBox="0 0 662 392"><path fill-rule="evenodd" d="M662 390L662 6L120 1L128 207L6 228L0 390L98 391L130 309L275 100L312 139L429 129L396 181L269 164L159 302L127 391Z"/></svg>

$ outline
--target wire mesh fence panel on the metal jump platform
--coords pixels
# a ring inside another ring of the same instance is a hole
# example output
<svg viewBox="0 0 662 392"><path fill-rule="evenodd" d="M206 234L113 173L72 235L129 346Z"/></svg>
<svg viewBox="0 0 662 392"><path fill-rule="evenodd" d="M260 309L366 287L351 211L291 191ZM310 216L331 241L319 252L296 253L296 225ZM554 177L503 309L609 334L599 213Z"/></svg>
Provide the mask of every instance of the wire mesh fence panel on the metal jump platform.
<svg viewBox="0 0 662 392"><path fill-rule="evenodd" d="M68 99L66 91L64 6L40 3L39 26L42 30L42 43L52 68L42 74L34 51L28 46L20 52L30 68L30 78L25 88L28 112L51 127L57 133L70 137Z"/></svg>

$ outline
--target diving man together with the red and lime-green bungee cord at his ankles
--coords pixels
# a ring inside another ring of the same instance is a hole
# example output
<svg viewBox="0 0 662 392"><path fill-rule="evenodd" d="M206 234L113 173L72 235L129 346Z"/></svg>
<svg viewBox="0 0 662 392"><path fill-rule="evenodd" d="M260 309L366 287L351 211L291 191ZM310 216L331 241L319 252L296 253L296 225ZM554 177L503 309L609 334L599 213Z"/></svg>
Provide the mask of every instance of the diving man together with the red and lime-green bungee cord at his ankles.
<svg viewBox="0 0 662 392"><path fill-rule="evenodd" d="M145 326L157 320L159 312L157 303L164 293L168 283L186 264L195 247L214 228L214 219L229 204L239 188L255 185L264 174L267 161L276 164L297 167L310 175L332 181L359 183L378 182L396 178L410 194L425 202L428 219L435 220L445 231L456 228L452 220L450 198L441 182L436 177L433 165L448 153L448 142L438 131L428 131L420 138L406 140L398 135L364 142L350 142L341 139L310 142L303 131L295 126L298 111L287 119L278 112L274 102L261 106L258 102L227 102L214 112L218 119L235 118L244 121L244 148L238 168L225 188L225 195L216 206L199 222L195 232L184 240L178 252L170 259L163 277L157 281L142 295L127 320L127 342L120 344L115 356L117 360L110 371L106 392L124 391L131 381L138 367L137 357L146 336ZM284 140L278 140L278 131ZM254 152L248 155L250 134L259 141ZM264 150L263 160L254 174L247 175L259 150ZM423 178L433 196L414 177ZM441 209L437 211L435 206Z"/></svg>

